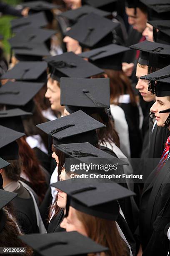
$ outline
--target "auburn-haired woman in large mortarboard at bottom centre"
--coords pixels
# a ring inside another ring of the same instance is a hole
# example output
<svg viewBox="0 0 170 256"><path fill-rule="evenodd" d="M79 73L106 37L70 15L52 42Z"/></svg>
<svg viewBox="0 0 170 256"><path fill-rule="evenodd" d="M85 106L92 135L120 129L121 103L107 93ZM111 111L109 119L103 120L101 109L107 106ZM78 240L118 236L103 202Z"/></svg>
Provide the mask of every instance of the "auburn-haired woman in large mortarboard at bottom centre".
<svg viewBox="0 0 170 256"><path fill-rule="evenodd" d="M122 197L130 196L131 192L118 184L98 183L94 180L87 182L85 179L81 181L82 183L80 180L74 183L74 181L66 180L55 184L59 191L67 193L65 218L60 226L67 232L75 230L110 249L108 253L101 255L132 255L125 237L122 236L115 222L119 215L119 205L115 201L113 187L116 187L119 196ZM112 199L108 199L107 193L112 195ZM76 197L79 199L77 200ZM99 200L96 200L96 197ZM89 202L85 198L88 198Z"/></svg>

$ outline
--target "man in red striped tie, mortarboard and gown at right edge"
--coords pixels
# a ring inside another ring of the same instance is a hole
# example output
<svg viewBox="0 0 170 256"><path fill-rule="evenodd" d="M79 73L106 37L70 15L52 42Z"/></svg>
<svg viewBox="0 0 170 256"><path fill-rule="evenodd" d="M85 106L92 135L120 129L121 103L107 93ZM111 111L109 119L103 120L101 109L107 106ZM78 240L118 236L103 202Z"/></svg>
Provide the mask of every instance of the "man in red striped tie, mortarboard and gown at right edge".
<svg viewBox="0 0 170 256"><path fill-rule="evenodd" d="M151 107L157 125L170 129L170 66L141 77L150 80L155 90L156 102ZM156 82L155 82L156 81ZM168 109L168 110L167 110ZM151 172L145 182L140 204L140 241L143 255L167 255L169 241L166 226L170 222L170 137L167 137L165 148L158 166ZM168 227L169 228L169 227Z"/></svg>

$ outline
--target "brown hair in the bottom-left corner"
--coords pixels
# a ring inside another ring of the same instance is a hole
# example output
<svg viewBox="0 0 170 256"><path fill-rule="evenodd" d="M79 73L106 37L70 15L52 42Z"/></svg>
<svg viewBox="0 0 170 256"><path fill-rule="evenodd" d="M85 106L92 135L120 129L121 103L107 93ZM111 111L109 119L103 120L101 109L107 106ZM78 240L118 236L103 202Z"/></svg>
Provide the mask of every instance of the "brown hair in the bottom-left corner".
<svg viewBox="0 0 170 256"><path fill-rule="evenodd" d="M16 221L14 218L10 218L7 210L4 210L6 214L5 225L0 232L0 247L26 247L26 253L19 254L20 256L33 256L33 250L28 245L26 245L23 241L18 238L21 235L19 229L16 225ZM10 256L15 256L15 254L10 253L7 254Z"/></svg>

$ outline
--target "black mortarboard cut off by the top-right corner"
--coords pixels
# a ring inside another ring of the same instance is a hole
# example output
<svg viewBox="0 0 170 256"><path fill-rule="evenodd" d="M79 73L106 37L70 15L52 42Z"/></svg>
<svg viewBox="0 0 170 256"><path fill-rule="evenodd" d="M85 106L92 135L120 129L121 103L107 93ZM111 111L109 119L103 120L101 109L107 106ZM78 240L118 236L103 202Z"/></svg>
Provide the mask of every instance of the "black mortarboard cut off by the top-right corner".
<svg viewBox="0 0 170 256"><path fill-rule="evenodd" d="M170 15L169 0L140 0L148 8L148 20L168 20Z"/></svg>

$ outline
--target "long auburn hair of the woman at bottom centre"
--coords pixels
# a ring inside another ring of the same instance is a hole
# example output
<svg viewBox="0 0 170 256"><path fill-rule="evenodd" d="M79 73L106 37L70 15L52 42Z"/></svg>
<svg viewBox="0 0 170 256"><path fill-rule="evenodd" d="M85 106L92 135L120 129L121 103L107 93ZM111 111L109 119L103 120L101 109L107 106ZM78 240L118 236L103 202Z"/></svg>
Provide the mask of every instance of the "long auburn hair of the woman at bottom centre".
<svg viewBox="0 0 170 256"><path fill-rule="evenodd" d="M119 235L115 221L97 218L75 209L77 218L85 227L87 236L110 251L101 256L128 256L128 248ZM94 254L90 254L94 255Z"/></svg>

